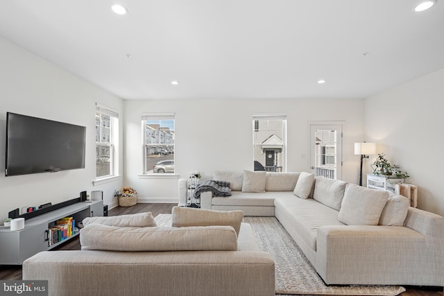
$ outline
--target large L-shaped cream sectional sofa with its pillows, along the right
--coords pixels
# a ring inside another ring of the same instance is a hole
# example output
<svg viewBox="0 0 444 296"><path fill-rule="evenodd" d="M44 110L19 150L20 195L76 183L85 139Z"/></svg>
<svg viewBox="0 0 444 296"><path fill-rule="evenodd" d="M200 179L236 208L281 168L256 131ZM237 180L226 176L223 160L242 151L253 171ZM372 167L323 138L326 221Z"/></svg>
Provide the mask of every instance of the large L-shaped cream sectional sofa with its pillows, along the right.
<svg viewBox="0 0 444 296"><path fill-rule="evenodd" d="M444 218L385 191L309 173L214 172L203 209L275 216L326 284L444 286Z"/></svg>

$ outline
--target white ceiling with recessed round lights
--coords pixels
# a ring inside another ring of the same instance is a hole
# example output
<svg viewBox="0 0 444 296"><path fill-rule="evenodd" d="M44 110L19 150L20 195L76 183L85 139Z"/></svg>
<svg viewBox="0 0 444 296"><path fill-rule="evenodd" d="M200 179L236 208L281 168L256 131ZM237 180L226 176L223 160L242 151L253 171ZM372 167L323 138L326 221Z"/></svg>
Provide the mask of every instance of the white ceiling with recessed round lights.
<svg viewBox="0 0 444 296"><path fill-rule="evenodd" d="M8 0L0 36L121 98L365 98L444 68L419 1Z"/></svg>

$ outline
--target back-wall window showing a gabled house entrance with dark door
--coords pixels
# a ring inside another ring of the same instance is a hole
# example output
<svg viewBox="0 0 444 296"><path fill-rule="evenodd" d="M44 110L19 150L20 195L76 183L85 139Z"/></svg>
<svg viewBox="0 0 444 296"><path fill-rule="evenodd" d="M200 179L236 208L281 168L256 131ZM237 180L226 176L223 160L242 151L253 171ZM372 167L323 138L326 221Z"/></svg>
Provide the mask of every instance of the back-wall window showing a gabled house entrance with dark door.
<svg viewBox="0 0 444 296"><path fill-rule="evenodd" d="M253 164L255 171L286 171L286 115L253 115Z"/></svg>

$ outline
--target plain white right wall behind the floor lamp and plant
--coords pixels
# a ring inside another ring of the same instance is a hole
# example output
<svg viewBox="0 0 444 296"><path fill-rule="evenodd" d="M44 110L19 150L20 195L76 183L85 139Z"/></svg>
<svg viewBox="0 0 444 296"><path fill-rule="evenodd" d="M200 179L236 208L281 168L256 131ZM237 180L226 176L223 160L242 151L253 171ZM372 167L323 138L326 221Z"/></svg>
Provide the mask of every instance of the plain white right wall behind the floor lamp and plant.
<svg viewBox="0 0 444 296"><path fill-rule="evenodd" d="M443 98L444 69L365 100L367 140L409 173L407 182L419 186L418 207L441 215Z"/></svg>

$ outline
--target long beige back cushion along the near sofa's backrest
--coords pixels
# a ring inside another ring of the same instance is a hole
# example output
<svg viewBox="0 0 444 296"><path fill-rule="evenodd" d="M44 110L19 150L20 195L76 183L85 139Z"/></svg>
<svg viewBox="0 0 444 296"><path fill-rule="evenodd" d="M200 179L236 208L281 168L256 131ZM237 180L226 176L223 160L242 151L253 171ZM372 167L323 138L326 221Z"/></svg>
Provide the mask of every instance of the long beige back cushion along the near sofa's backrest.
<svg viewBox="0 0 444 296"><path fill-rule="evenodd" d="M80 230L82 250L107 251L236 251L231 226L114 227L90 224Z"/></svg>

